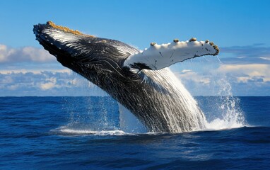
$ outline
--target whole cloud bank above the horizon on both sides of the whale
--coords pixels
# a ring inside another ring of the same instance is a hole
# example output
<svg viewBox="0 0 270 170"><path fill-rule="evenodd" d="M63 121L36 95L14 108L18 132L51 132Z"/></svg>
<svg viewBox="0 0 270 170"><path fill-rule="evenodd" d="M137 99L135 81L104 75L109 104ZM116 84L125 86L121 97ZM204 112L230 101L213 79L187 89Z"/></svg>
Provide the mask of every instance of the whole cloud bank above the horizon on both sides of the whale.
<svg viewBox="0 0 270 170"><path fill-rule="evenodd" d="M216 57L172 66L194 96L270 96L270 47L223 47ZM0 96L105 96L46 50L0 45Z"/></svg>

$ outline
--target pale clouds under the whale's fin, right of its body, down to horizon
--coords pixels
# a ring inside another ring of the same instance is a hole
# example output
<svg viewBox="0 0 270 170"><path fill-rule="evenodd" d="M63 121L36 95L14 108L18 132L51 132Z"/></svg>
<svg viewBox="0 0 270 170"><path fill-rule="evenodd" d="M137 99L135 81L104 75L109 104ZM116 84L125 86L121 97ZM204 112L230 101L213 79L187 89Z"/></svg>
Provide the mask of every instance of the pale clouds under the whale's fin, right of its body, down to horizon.
<svg viewBox="0 0 270 170"><path fill-rule="evenodd" d="M269 96L270 64L216 64L175 72L194 96Z"/></svg>

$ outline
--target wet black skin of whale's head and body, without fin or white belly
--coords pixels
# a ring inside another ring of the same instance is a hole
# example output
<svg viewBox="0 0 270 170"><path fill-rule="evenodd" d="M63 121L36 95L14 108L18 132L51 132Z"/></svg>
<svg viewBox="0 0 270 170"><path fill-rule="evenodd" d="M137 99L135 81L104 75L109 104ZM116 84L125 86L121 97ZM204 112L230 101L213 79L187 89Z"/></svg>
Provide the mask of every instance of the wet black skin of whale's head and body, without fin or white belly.
<svg viewBox="0 0 270 170"><path fill-rule="evenodd" d="M72 41L72 46L69 46L55 40L49 33L45 33L45 30L57 30L64 33L66 37L75 37L76 40ZM65 33L63 30L49 26L49 24L35 25L33 32L45 50L57 57L57 60L64 67L81 74L110 94L112 98L134 113L146 125L148 131L173 132L164 115L160 115L167 113L168 109L172 112L179 112L178 99L167 93L166 88L163 89L163 85L169 86L166 82L167 79L162 78L160 81L164 84L160 84L161 86L158 87L155 86L155 81L145 83L142 79L142 77L147 76L151 80L155 74L161 75L163 71L151 71L147 75L143 71L141 74L134 74L129 71L129 68L123 67L124 60L129 55L138 52L136 48L117 40ZM119 50L119 47L124 50ZM143 64L134 67L143 69ZM168 98L175 103L170 103L170 106L165 108L163 101L157 98ZM179 120L180 124L181 121L182 119Z"/></svg>

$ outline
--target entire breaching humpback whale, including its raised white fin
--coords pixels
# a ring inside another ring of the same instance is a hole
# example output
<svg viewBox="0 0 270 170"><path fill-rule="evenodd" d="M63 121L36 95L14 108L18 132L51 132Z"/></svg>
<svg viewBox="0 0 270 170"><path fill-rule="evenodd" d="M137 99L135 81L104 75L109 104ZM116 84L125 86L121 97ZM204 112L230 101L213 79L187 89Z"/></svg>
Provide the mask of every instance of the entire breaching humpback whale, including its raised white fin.
<svg viewBox="0 0 270 170"><path fill-rule="evenodd" d="M213 42L178 39L135 47L86 35L48 21L33 28L36 40L64 66L81 74L122 104L149 132L186 132L205 128L204 113L171 64L203 55L218 55Z"/></svg>

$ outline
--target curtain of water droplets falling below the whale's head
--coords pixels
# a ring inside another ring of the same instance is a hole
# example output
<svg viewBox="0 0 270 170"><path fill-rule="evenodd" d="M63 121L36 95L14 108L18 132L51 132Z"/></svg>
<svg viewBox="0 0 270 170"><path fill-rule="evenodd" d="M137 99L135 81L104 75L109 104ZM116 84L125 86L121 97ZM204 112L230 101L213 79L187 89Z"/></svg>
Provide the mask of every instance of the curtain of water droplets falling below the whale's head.
<svg viewBox="0 0 270 170"><path fill-rule="evenodd" d="M67 125L61 126L62 132L99 132L118 130L117 102L108 96L68 97L64 111L69 113Z"/></svg>

